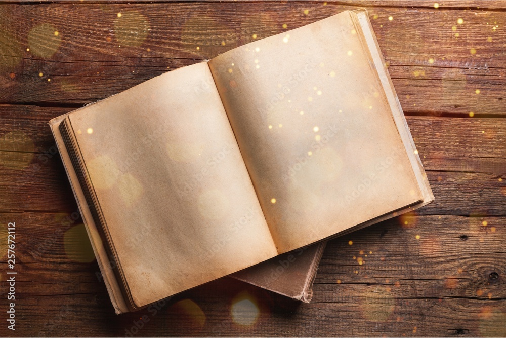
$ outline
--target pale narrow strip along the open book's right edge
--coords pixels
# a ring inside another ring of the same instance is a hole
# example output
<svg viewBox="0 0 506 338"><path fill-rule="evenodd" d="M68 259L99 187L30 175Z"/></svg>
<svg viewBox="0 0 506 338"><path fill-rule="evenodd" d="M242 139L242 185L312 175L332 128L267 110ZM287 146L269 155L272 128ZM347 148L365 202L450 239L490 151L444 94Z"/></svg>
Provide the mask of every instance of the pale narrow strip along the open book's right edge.
<svg viewBox="0 0 506 338"><path fill-rule="evenodd" d="M423 204L420 206L426 205L434 201L434 194L432 193L432 189L429 180L427 179L425 169L421 163L420 156L417 154L417 152L415 153L416 146L414 144L413 137L409 132L409 127L406 118L404 117L404 112L402 111L399 98L397 97L392 79L390 78L390 74L388 73L388 69L385 64L385 59L383 58L383 54L379 49L376 35L374 34L371 22L369 20L369 15L365 8L354 10L352 13L356 15L358 22L362 28L365 42L367 43L379 80L381 81L384 88L384 93L386 95L387 101L390 104L390 109L392 111L395 125L399 131L399 135L404 144L404 147L406 148L406 153L409 157L409 161L413 167L413 172L416 176L416 180L424 198Z"/></svg>

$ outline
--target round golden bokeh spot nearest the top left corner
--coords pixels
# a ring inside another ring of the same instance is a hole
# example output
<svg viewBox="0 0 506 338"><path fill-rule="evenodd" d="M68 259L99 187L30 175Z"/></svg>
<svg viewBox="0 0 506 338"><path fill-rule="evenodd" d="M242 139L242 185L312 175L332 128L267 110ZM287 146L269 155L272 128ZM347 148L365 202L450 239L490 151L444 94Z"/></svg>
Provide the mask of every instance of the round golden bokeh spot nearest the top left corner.
<svg viewBox="0 0 506 338"><path fill-rule="evenodd" d="M61 36L49 23L34 26L28 32L28 47L30 53L42 58L52 57L61 45Z"/></svg>

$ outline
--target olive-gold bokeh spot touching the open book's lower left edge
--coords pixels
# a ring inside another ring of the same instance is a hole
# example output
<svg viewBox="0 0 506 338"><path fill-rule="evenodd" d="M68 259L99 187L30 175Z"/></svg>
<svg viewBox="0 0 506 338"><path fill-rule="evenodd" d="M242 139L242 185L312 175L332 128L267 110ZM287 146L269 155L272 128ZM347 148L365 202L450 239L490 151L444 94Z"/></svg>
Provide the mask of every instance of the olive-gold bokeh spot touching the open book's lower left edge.
<svg viewBox="0 0 506 338"><path fill-rule="evenodd" d="M73 261L90 263L95 260L85 224L77 224L68 229L63 235L63 246L67 258Z"/></svg>

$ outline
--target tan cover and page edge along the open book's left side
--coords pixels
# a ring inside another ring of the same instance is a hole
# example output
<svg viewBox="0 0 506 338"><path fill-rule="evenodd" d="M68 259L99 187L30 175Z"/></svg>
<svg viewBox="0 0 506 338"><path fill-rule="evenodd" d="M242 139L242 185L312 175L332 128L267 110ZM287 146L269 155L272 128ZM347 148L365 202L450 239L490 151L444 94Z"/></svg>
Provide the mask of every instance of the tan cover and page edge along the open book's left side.
<svg viewBox="0 0 506 338"><path fill-rule="evenodd" d="M75 110L74 110L75 111ZM73 112L73 111L71 111ZM74 168L70 162L70 157L68 155L67 149L63 143L63 139L60 134L59 125L63 121L65 117L67 117L71 112L59 116L57 118L52 119L49 122L51 127L51 131L56 141L56 145L58 147L58 151L60 153L60 157L63 162L63 167L65 168L65 172L67 173L67 177L70 181L70 186L72 187L72 192L74 194L74 198L77 202L77 206L82 216L82 221L85 224L86 231L88 233L88 237L90 238L90 242L92 244L93 251L95 253L95 257L97 258L97 262L100 268L100 272L102 274L102 278L104 279L105 286L107 288L107 292L111 298L112 305L114 307L115 313L125 313L129 312L130 309L126 305L123 295L121 293L121 289L119 284L114 276L114 272L109 264L107 264L108 257L106 254L105 247L102 243L100 237L98 237L98 230L93 220L90 208L88 207L88 203L85 199L85 196L81 190L79 184L74 184L77 182L77 176L75 174Z"/></svg>

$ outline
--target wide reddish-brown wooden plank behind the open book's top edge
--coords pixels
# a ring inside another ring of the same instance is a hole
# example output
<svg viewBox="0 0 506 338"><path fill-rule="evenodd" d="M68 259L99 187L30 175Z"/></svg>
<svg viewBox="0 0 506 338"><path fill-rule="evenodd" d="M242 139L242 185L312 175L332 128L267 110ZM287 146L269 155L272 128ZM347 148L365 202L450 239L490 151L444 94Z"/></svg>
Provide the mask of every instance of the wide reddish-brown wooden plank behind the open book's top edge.
<svg viewBox="0 0 506 338"><path fill-rule="evenodd" d="M363 5L373 3L2 5L0 85L4 91L0 102L93 102L167 67L199 62L253 41L253 34L261 39ZM368 10L407 114L506 114L502 103L506 12L418 7ZM17 17L27 18L30 24ZM26 51L30 44L32 48Z"/></svg>

